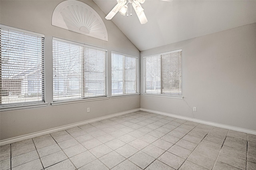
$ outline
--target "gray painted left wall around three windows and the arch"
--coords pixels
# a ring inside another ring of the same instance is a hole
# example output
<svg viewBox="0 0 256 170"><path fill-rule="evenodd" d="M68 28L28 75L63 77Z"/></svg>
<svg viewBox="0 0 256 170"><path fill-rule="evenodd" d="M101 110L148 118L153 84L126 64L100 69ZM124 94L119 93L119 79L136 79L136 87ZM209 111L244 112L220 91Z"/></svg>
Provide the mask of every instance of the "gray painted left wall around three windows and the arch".
<svg viewBox="0 0 256 170"><path fill-rule="evenodd" d="M122 97L102 101L90 101L52 106L52 37L104 48L105 42L89 36L64 30L51 25L52 12L62 1L58 0L1 0L1 24L45 35L46 107L2 111L0 113L0 140L78 123L97 117L140 108L140 96ZM92 0L82 1L92 7L103 18L108 42L108 94L111 95L111 51L140 56L140 51ZM90 107L90 113L86 108Z"/></svg>

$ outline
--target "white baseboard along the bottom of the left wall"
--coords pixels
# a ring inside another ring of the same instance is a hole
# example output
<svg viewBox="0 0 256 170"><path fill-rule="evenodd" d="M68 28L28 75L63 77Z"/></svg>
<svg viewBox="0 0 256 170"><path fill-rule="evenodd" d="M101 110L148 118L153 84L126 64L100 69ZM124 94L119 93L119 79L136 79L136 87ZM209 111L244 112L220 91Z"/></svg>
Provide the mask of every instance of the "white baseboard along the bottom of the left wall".
<svg viewBox="0 0 256 170"><path fill-rule="evenodd" d="M115 114L112 114L112 115L103 116L103 117L99 117L99 118L95 118L95 119L90 119L88 121L82 121L82 122L79 122L79 123L73 123L73 124L70 124L70 125L62 126L62 127L51 128L51 129L43 130L43 131L40 131L40 132L35 132L35 133L31 133L31 134L17 136L17 137L9 138L9 139L6 139L6 140L0 140L0 146L4 145L4 144L10 144L10 143L13 143L13 142L18 142L20 140L34 138L36 136L41 136L41 135L44 135L44 134L49 134L49 133L57 132L57 131L60 131L60 130L65 130L65 129L72 128L72 127L77 127L77 126L85 125L87 123L101 121L103 119L109 119L109 118L112 118L112 117L124 115L124 114L127 114L127 113L132 113L132 112L136 112L136 111L140 111L140 109L133 109L133 110L130 110L130 111L125 111L125 112L115 113Z"/></svg>

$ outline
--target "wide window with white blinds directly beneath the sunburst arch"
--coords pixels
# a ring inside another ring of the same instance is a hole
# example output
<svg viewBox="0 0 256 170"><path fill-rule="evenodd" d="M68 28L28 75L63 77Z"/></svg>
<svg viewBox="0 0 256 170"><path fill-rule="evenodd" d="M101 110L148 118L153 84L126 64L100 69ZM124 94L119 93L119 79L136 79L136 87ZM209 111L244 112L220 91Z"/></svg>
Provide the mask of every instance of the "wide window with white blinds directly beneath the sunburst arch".
<svg viewBox="0 0 256 170"><path fill-rule="evenodd" d="M106 96L106 51L54 38L53 101Z"/></svg>

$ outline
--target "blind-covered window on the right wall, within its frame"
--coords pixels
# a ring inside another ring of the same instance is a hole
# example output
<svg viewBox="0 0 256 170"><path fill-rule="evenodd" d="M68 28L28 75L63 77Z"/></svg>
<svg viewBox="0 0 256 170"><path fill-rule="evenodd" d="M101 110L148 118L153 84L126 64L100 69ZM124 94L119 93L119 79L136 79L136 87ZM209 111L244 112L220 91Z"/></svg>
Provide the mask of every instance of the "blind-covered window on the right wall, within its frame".
<svg viewBox="0 0 256 170"><path fill-rule="evenodd" d="M182 97L182 50L144 57L144 94Z"/></svg>

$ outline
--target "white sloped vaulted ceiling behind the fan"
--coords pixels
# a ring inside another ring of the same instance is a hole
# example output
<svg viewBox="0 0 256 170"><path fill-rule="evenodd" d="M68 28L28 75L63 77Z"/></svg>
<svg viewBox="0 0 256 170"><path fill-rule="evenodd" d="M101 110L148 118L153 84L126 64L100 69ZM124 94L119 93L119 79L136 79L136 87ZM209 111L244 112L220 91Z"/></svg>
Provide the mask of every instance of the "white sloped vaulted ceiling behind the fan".
<svg viewBox="0 0 256 170"><path fill-rule="evenodd" d="M93 1L105 14L117 4ZM140 24L134 9L132 16L118 12L112 18L140 51L256 22L256 0L146 0L142 8L146 24Z"/></svg>

